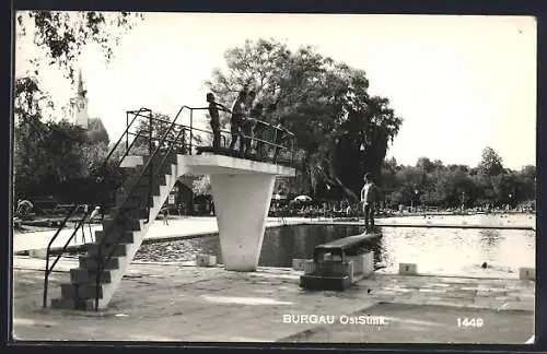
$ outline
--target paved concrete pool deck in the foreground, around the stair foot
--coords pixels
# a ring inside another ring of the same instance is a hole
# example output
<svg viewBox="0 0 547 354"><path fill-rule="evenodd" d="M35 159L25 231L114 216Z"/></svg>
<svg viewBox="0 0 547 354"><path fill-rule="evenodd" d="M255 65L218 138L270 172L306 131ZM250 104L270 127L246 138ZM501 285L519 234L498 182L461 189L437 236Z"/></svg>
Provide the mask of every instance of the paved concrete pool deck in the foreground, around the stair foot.
<svg viewBox="0 0 547 354"><path fill-rule="evenodd" d="M61 259L49 298L75 263ZM344 293L307 292L290 269L136 261L108 309L82 312L42 308L44 260L15 256L13 266L18 340L517 344L534 331L533 281L375 273ZM291 315L334 316L335 323L295 323ZM342 323L366 315L384 323ZM457 318L482 326L458 327Z"/></svg>

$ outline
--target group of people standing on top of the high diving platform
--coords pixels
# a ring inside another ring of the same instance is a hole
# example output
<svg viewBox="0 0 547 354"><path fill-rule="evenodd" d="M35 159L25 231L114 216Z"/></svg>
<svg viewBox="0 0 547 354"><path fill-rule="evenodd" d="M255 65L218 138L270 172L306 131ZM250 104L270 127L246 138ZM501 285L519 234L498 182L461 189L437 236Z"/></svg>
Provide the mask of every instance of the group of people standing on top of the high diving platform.
<svg viewBox="0 0 547 354"><path fill-rule="evenodd" d="M266 104L256 99L256 92L246 88L240 91L237 98L229 109L216 101L214 94L207 94L209 103L210 125L213 132L212 148L220 148L219 110L231 114L230 150L240 155L256 153L258 157L266 155L265 145L274 143L274 160L277 160L280 146L292 133L286 128L286 118L277 114L277 104ZM268 129L272 128L272 129Z"/></svg>

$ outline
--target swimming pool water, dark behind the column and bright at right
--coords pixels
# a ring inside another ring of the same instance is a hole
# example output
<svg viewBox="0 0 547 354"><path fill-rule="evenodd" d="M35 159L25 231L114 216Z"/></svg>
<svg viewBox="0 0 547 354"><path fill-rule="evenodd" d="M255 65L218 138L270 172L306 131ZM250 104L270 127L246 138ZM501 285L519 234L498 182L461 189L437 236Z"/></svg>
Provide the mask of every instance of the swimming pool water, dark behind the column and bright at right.
<svg viewBox="0 0 547 354"><path fill-rule="evenodd" d="M361 234L362 226L291 225L266 229L259 266L291 267L293 258L312 258L315 246ZM417 263L420 272L466 272L482 262L498 269L534 267L535 233L511 229L451 229L382 227L370 246L375 267L396 271L399 262ZM138 260L183 261L196 253L216 255L217 236L142 245Z"/></svg>

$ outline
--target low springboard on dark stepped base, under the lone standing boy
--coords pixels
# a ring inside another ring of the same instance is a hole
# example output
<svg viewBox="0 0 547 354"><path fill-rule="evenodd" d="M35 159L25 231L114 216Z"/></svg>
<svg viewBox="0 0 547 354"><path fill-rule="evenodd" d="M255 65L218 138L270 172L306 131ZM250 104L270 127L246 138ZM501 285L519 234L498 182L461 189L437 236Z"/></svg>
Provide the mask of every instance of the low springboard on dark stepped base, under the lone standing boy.
<svg viewBox="0 0 547 354"><path fill-rule="evenodd" d="M316 246L313 267L300 278L300 286L309 290L348 288L368 275L363 274L363 255L366 252L366 246L379 237L381 234L361 234ZM329 257L325 257L327 255Z"/></svg>

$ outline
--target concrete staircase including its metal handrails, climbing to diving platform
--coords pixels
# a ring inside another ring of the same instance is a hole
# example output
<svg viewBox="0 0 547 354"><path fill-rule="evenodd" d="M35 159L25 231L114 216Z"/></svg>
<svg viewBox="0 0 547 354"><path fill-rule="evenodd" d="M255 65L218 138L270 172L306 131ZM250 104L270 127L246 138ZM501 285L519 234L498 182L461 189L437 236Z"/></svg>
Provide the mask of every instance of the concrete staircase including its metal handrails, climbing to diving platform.
<svg viewBox="0 0 547 354"><path fill-rule="evenodd" d="M177 123L177 118L184 109L189 110L190 114L189 127ZM148 108L127 111L126 130L105 157L96 176L101 186L98 192L104 193L97 199L101 200L103 211L107 212L102 222L103 229L95 232L94 243L84 245L85 255L79 258L80 267L70 270L70 282L61 284L61 296L51 299L53 308L98 310L108 306L121 282L121 278L147 236L151 223L160 213L177 178L188 172L189 167L186 164L178 164L177 162L181 154L193 154L195 140L193 131L203 132L203 130L193 128L193 111L196 109L205 110L208 108L182 106L173 121L154 118L152 111ZM129 120L130 115L133 116L132 120ZM146 125L141 125L142 122ZM153 134L153 122L162 125L162 133L158 131L155 135ZM164 129L167 126L168 128ZM138 128L136 132L130 131L136 127ZM130 139L132 139L131 143L129 143ZM140 141L140 143L136 144L137 141ZM131 150L133 145L142 146L143 142L148 145L146 153L138 154ZM270 145L274 146L275 144L270 143ZM293 145L294 142L291 142L291 146ZM114 153L119 149L125 151L123 156L113 161ZM199 153L200 150L196 150ZM276 148L277 150L279 148ZM219 151L214 153L219 153ZM228 151L226 155L231 155L231 153L232 151ZM294 153L292 153L291 158L293 161ZM274 163L276 163L276 158L274 160ZM112 163L116 167L115 176L108 177L109 169L107 167ZM121 169L120 175L123 177L115 180L120 172L119 169ZM112 184L115 186L112 186ZM53 262L49 259L51 246L61 231L66 228L67 223L74 222L73 219L79 209L80 205L66 215L47 246L44 307L47 307L48 304L49 274L54 271L63 252L67 251L68 245L74 239L77 233L85 227L85 221L91 211L77 219L77 225L71 236Z"/></svg>

